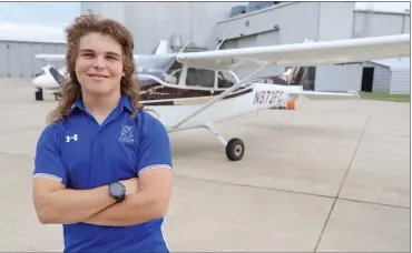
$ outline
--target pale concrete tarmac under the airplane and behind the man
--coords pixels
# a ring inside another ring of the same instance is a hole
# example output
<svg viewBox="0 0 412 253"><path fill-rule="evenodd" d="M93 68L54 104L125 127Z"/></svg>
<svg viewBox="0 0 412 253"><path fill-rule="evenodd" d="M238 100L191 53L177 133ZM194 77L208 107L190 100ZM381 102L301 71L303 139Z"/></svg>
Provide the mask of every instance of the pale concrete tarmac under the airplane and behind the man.
<svg viewBox="0 0 412 253"><path fill-rule="evenodd" d="M36 144L47 113L27 79L0 79L0 251L62 251L38 222ZM302 98L216 124L246 154L226 159L206 130L170 134L173 252L410 252L410 103Z"/></svg>

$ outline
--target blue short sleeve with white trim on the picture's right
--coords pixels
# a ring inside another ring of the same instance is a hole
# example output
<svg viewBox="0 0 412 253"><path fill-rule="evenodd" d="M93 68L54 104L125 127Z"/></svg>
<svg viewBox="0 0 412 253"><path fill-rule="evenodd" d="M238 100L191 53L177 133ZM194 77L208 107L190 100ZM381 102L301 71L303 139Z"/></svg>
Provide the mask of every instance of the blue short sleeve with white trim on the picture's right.
<svg viewBox="0 0 412 253"><path fill-rule="evenodd" d="M145 114L138 146L138 174L153 169L173 169L169 135L160 121Z"/></svg>

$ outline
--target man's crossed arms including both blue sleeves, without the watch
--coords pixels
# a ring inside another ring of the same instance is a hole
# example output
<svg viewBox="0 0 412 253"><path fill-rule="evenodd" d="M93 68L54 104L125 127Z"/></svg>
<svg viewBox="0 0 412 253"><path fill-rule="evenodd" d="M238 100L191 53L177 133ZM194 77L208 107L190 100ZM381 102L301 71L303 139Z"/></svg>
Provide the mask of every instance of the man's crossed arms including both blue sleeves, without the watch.
<svg viewBox="0 0 412 253"><path fill-rule="evenodd" d="M66 144L61 142L61 128L49 125L43 130L37 144L32 189L41 223L129 226L165 215L173 180L168 133L155 118L148 114L139 118L145 122L136 150L139 178L120 181L126 186L126 199L119 203L109 195L107 185L90 190L66 189L69 172L61 152ZM151 168L153 164L164 165Z"/></svg>

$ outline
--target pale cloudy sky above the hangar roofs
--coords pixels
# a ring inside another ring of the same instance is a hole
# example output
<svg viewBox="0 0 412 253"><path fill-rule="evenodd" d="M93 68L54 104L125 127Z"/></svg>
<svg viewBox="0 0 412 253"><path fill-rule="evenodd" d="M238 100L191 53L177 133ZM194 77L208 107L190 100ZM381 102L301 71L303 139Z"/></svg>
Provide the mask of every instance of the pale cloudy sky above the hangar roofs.
<svg viewBox="0 0 412 253"><path fill-rule="evenodd" d="M356 8L371 3L357 2ZM410 2L373 2L374 10L409 8ZM80 2L0 2L0 40L63 41L62 28L80 12Z"/></svg>

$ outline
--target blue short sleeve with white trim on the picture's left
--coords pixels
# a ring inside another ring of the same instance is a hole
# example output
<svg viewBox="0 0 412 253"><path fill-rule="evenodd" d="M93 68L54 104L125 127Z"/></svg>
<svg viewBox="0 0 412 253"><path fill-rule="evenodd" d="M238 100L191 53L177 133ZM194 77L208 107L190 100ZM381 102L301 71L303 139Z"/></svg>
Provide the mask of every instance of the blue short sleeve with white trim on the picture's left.
<svg viewBox="0 0 412 253"><path fill-rule="evenodd" d="M33 178L48 178L67 185L57 128L47 126L40 134L36 148Z"/></svg>

